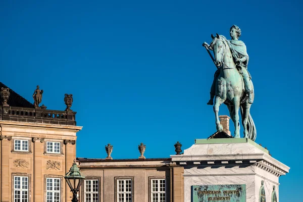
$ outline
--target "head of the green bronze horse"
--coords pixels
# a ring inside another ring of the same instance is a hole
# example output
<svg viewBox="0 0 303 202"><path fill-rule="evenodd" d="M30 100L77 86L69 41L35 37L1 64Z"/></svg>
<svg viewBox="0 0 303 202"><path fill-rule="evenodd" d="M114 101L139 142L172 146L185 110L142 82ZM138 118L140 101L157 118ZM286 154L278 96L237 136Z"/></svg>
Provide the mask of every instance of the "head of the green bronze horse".
<svg viewBox="0 0 303 202"><path fill-rule="evenodd" d="M212 38L213 41L211 42L210 46L214 50L215 64L217 67L221 67L223 64L223 54L224 54L225 44L223 38L219 34L217 34L217 36L213 36L212 34Z"/></svg>

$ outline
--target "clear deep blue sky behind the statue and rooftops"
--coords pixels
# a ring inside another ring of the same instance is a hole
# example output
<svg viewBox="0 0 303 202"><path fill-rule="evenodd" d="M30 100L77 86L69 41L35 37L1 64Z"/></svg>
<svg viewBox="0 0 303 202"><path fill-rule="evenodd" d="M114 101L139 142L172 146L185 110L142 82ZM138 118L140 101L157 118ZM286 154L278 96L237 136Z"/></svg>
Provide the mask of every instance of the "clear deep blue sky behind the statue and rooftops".
<svg viewBox="0 0 303 202"><path fill-rule="evenodd" d="M291 167L280 201L301 199L302 3L299 1L2 1L1 82L47 109L72 93L77 157L174 154L216 131L206 103L215 66L201 44L242 30L256 98L257 143ZM220 114L227 114L222 106ZM241 126L242 127L242 126ZM233 129L233 127L231 127ZM242 130L241 130L242 134Z"/></svg>

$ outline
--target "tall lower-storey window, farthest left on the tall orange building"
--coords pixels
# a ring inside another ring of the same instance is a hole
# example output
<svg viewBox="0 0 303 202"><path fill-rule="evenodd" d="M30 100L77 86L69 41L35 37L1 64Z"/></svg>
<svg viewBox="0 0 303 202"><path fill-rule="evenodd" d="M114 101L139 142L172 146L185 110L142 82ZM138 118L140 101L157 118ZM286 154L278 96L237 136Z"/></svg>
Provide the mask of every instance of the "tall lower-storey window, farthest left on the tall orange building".
<svg viewBox="0 0 303 202"><path fill-rule="evenodd" d="M14 202L28 202L28 177L14 176Z"/></svg>

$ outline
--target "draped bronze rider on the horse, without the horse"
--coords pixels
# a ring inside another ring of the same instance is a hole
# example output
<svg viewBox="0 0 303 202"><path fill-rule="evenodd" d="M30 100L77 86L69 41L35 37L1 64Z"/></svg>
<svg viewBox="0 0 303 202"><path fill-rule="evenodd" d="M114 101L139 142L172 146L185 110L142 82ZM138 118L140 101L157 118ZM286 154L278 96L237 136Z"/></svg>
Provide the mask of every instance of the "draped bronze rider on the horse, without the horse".
<svg viewBox="0 0 303 202"><path fill-rule="evenodd" d="M237 67L239 73L243 77L245 92L248 95L248 103L252 104L252 102L253 102L252 96L251 96L252 87L250 84L251 76L247 70L249 57L246 52L246 45L244 44L243 41L238 40L239 37L241 36L240 28L236 25L233 25L230 28L230 36L231 36L231 40L228 41L228 45L229 45L230 51L232 53L233 60L236 64L236 67ZM207 46L209 49L212 50L212 47L209 44L207 44L206 42L204 42L203 45ZM216 81L218 79L219 74L220 74L220 70L218 69L214 76L214 81L213 81L213 84L211 87L211 99L207 103L208 105L214 105L213 100L214 100L215 92L216 92Z"/></svg>

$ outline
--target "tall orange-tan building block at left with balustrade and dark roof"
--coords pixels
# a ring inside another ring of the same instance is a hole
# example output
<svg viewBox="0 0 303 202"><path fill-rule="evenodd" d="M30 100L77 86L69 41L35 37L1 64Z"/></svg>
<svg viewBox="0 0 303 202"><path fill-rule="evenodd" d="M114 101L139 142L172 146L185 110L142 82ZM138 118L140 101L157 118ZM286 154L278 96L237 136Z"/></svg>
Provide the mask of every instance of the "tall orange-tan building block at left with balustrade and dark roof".
<svg viewBox="0 0 303 202"><path fill-rule="evenodd" d="M1 201L69 201L64 175L82 128L76 126L76 113L35 107L3 83L0 88Z"/></svg>

